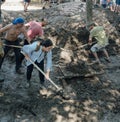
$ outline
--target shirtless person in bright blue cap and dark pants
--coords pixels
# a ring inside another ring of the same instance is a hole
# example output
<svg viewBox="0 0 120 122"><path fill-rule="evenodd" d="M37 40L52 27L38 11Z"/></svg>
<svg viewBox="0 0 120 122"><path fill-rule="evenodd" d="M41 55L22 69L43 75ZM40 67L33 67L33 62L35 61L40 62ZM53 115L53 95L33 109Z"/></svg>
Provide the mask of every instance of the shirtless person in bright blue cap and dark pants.
<svg viewBox="0 0 120 122"><path fill-rule="evenodd" d="M6 56L6 54L8 53L8 51L11 48L13 48L14 53L15 53L15 60L16 60L15 71L16 71L16 73L23 74L23 72L20 70L20 67L21 67L20 49L15 48L15 47L10 47L9 45L19 46L18 35L20 33L23 33L24 36L28 40L30 40L29 37L27 36L26 28L24 26L24 19L21 17L14 19L12 23L8 24L5 27L0 28L0 33L3 33L3 32L6 32L5 38L4 38L4 43L7 46L4 47L4 56L2 58L0 58L0 69L2 67L2 63L3 63L3 60Z"/></svg>

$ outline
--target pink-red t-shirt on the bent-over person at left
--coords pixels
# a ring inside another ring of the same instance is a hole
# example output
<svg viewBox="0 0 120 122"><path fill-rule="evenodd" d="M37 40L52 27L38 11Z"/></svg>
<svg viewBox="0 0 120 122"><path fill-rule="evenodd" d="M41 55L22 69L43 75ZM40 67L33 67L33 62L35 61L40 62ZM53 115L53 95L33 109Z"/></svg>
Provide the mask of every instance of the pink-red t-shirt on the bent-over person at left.
<svg viewBox="0 0 120 122"><path fill-rule="evenodd" d="M26 25L29 25L27 35L31 39L34 39L36 36L42 36L44 34L42 25L40 22L31 21L27 23Z"/></svg>

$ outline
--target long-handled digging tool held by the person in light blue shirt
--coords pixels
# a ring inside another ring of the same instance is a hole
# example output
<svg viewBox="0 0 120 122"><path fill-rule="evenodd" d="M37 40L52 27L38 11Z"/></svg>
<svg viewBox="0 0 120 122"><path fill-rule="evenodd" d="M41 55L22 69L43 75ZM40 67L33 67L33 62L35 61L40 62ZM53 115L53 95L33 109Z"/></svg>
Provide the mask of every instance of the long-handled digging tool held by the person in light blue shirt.
<svg viewBox="0 0 120 122"><path fill-rule="evenodd" d="M21 53L25 56L23 51L21 51ZM40 71L45 76L45 73L30 58L28 60L36 67L38 71ZM50 81L50 83L52 83L52 85L57 89L57 94L59 94L63 99L69 99L68 96L64 96L63 89L58 87L58 85L56 85L50 78L48 81Z"/></svg>

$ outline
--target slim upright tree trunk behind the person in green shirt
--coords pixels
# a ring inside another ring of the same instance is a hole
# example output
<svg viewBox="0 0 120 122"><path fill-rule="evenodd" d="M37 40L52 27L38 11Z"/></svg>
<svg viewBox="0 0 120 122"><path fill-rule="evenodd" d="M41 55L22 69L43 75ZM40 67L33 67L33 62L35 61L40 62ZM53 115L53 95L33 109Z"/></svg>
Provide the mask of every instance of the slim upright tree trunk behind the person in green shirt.
<svg viewBox="0 0 120 122"><path fill-rule="evenodd" d="M92 0L86 0L86 24L87 25L92 23L92 17L93 17L92 5L93 5Z"/></svg>

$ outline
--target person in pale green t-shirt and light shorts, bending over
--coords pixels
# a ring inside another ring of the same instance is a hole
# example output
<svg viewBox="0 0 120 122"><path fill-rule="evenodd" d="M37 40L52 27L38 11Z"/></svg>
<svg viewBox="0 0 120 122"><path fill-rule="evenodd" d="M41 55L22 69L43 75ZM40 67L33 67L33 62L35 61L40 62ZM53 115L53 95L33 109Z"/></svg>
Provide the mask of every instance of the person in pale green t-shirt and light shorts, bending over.
<svg viewBox="0 0 120 122"><path fill-rule="evenodd" d="M106 61L110 62L109 54L108 54L107 50L105 49L105 47L108 45L108 38L106 36L104 27L96 26L95 23L91 23L88 25L88 29L90 30L89 44L90 45L92 44L93 37L97 40L97 43L91 47L91 51L96 58L95 62L98 62L99 64L101 64L100 59L97 55L97 52L100 50L102 50L104 52L104 54L106 56L106 58L105 58Z"/></svg>

